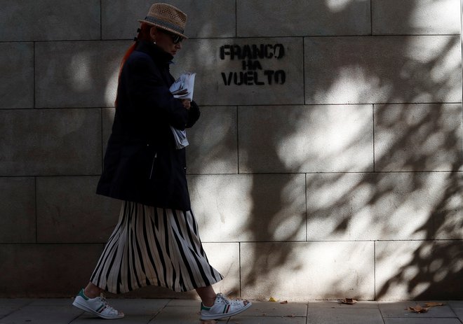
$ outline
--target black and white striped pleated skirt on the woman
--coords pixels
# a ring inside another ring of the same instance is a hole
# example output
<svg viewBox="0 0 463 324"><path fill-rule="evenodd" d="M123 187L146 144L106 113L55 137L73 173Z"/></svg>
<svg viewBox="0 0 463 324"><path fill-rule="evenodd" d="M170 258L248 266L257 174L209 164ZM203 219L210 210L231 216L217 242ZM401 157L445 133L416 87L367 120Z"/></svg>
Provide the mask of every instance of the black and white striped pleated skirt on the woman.
<svg viewBox="0 0 463 324"><path fill-rule="evenodd" d="M127 293L144 286L188 291L222 279L208 262L192 211L123 202L90 281Z"/></svg>

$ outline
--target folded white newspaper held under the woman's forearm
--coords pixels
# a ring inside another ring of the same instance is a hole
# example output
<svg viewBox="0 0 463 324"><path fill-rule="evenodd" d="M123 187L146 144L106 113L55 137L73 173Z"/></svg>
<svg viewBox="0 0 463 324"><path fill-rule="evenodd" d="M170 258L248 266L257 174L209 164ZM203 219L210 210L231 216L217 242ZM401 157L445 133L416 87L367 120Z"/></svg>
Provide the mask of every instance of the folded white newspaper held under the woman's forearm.
<svg viewBox="0 0 463 324"><path fill-rule="evenodd" d="M196 73L187 72L182 73L180 78L177 78L177 80L173 83L173 85L170 86L169 89L174 98L193 100L194 76L196 76ZM184 130L176 129L172 126L170 126L170 129L172 129L172 133L175 139L175 148L177 148L177 150L180 150L181 148L189 145L187 132Z"/></svg>

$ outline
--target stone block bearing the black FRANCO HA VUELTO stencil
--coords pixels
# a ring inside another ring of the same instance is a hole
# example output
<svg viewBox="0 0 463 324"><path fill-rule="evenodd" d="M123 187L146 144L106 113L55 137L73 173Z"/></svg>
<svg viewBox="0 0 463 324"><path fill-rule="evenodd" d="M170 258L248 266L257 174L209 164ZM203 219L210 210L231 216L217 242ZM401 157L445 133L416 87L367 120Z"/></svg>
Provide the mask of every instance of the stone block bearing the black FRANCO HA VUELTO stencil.
<svg viewBox="0 0 463 324"><path fill-rule="evenodd" d="M302 38L192 39L172 70L197 72L200 106L303 104L302 55Z"/></svg>

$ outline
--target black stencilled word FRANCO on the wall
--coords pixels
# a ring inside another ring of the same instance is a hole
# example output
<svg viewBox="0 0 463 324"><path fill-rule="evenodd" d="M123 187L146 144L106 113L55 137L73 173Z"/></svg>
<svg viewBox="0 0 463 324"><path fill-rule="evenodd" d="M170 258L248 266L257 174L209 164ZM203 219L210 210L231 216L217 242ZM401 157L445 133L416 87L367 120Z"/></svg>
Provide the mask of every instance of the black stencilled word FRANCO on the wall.
<svg viewBox="0 0 463 324"><path fill-rule="evenodd" d="M283 44L260 45L222 45L220 46L220 59L281 59L285 56Z"/></svg>

